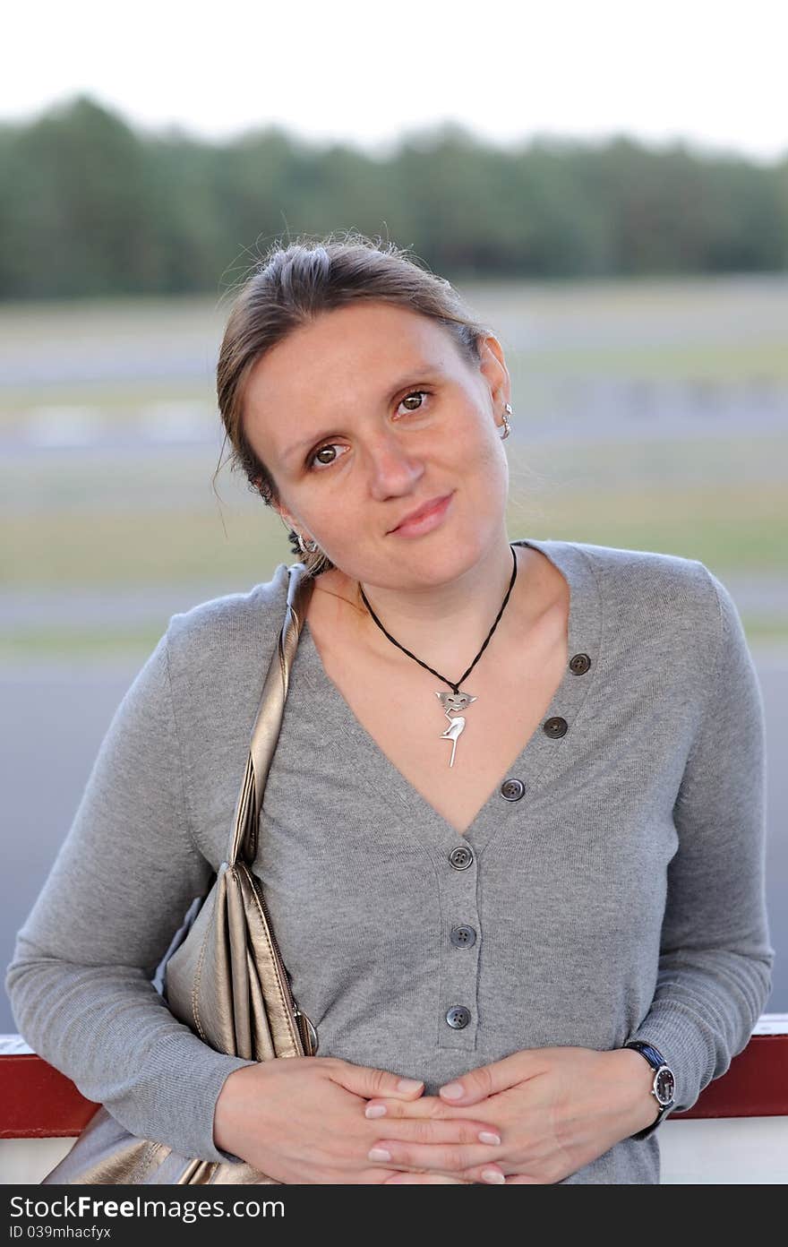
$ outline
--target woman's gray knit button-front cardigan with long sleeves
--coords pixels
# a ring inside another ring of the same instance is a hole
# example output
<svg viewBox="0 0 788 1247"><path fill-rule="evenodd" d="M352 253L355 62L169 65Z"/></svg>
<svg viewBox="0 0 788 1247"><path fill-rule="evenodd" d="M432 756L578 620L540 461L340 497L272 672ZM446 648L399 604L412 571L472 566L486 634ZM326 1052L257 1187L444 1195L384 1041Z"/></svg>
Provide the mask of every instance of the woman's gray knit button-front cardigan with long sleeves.
<svg viewBox="0 0 788 1247"><path fill-rule="evenodd" d="M643 1039L673 1066L686 1109L746 1046L771 985L752 658L703 564L524 544L569 581L570 662L466 834L360 726L307 625L257 870L320 1055L436 1094L519 1049ZM248 1062L177 1023L152 980L223 858L286 590L282 564L248 594L171 619L112 720L6 980L22 1036L84 1095L208 1160L224 1157L212 1134L222 1084ZM556 718L564 734L545 729ZM564 1181L658 1182L658 1134Z"/></svg>

